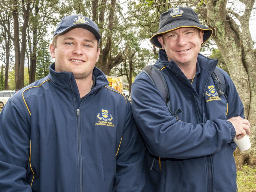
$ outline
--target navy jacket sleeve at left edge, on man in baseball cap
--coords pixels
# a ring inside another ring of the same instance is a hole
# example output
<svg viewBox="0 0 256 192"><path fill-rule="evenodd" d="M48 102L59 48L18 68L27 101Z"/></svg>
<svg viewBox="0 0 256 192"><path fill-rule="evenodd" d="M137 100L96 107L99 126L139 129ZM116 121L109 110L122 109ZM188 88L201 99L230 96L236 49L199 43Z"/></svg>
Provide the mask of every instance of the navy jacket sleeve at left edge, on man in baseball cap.
<svg viewBox="0 0 256 192"><path fill-rule="evenodd" d="M15 96L14 96L15 97ZM26 182L30 129L17 105L8 99L0 113L0 189L31 192Z"/></svg>

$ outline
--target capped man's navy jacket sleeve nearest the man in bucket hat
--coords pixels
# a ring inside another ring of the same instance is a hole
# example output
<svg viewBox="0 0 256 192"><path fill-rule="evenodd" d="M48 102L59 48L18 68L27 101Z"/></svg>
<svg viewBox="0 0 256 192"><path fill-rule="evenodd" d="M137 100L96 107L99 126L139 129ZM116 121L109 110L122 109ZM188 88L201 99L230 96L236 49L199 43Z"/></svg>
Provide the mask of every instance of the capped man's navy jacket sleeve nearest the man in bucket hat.
<svg viewBox="0 0 256 192"><path fill-rule="evenodd" d="M122 135L117 137L113 192L140 192L144 187L144 144L135 126L131 105L127 104L130 107L126 111L125 126Z"/></svg>

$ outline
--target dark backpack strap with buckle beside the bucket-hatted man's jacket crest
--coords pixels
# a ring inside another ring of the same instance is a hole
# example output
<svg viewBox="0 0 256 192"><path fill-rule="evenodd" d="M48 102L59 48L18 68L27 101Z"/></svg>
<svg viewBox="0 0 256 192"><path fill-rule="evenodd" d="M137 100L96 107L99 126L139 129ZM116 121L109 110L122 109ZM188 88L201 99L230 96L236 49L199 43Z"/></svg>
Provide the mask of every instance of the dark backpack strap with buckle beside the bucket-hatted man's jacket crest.
<svg viewBox="0 0 256 192"><path fill-rule="evenodd" d="M219 97L224 95L227 98L226 82L223 74L220 72L220 70L217 67L212 72L211 77L214 81L214 85Z"/></svg>

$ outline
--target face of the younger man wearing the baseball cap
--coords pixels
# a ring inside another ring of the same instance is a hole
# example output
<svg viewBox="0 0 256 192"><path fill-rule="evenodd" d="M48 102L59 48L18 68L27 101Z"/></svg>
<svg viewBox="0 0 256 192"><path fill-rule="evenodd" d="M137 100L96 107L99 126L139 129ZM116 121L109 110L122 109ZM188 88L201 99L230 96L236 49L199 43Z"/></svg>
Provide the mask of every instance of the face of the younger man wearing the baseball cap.
<svg viewBox="0 0 256 192"><path fill-rule="evenodd" d="M72 72L75 79L90 77L100 55L97 41L90 31L83 28L72 28L58 36L56 47L50 45L55 70Z"/></svg>

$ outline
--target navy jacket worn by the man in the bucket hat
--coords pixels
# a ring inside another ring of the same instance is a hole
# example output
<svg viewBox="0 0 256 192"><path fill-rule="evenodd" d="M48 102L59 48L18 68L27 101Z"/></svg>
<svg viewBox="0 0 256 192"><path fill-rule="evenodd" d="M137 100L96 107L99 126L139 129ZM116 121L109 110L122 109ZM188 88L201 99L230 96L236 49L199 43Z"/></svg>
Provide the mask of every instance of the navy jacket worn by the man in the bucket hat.
<svg viewBox="0 0 256 192"><path fill-rule="evenodd" d="M178 114L181 121L170 114L145 73L135 78L133 116L147 146L145 191L237 190L233 157L236 145L232 140L235 129L227 119L243 117L243 105L223 70L228 96L217 95L211 78L217 62L199 54L191 84L176 63L168 61L165 51L159 51L155 66L166 79L171 111L183 110Z"/></svg>

